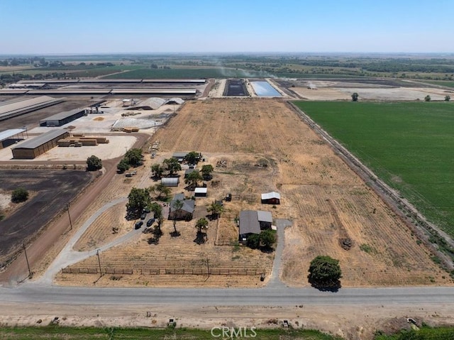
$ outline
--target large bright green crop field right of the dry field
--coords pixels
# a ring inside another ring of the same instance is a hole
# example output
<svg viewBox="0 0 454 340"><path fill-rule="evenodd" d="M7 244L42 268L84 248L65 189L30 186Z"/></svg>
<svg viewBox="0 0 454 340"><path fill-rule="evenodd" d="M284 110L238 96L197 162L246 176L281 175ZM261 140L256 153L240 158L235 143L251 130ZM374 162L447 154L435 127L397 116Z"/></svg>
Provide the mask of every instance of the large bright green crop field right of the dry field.
<svg viewBox="0 0 454 340"><path fill-rule="evenodd" d="M454 236L454 103L295 104Z"/></svg>

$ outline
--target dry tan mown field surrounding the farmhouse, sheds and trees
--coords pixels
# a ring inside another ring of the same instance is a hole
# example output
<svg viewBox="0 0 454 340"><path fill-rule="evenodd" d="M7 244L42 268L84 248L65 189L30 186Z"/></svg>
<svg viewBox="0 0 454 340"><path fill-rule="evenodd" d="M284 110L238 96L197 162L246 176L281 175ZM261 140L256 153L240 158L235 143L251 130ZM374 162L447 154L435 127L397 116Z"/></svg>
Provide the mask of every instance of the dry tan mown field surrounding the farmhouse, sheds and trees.
<svg viewBox="0 0 454 340"><path fill-rule="evenodd" d="M392 210L281 100L187 102L177 116L157 131L151 143L155 140L160 141L160 149L153 163L175 151L197 150L204 155L206 163L215 166L214 178L208 184L209 197L197 199L196 216L191 222L177 222L177 229L182 233L179 238L170 237L172 221L166 221L159 244L148 244L150 234L143 234L103 252L104 265L147 270L153 263L172 268L184 261L189 263L187 266L197 268L204 267L208 258L212 268L247 265L263 268L269 274L272 255L246 247L214 245L215 240L221 243L236 237L233 219L241 209L262 209L272 212L274 218L293 222L285 231L280 273L287 285L308 285L309 262L325 254L340 260L344 287L452 284ZM148 148L145 146L144 150ZM148 182L146 173L151 164L147 157L143 174L133 179L136 186L153 184ZM104 193L104 199L96 201L91 212L102 202L109 202L106 197L113 199L121 194L126 197L134 183L124 181L124 177L117 176ZM260 193L270 190L282 195L282 204L276 209L260 204ZM180 186L174 193L182 191ZM232 202L225 203L226 213L218 222L210 222L209 241L196 245L193 242L196 219L206 214L206 205L226 193L233 194ZM93 228L109 231L110 225L98 221ZM350 250L341 248L338 242L345 237L353 241ZM88 236L85 241L87 245L79 244L80 248L89 246ZM95 257L89 258L77 266L96 266L96 261ZM260 285L258 276L214 276L206 280L203 275L104 275L96 285ZM61 284L94 280L96 275L87 274L58 277Z"/></svg>

